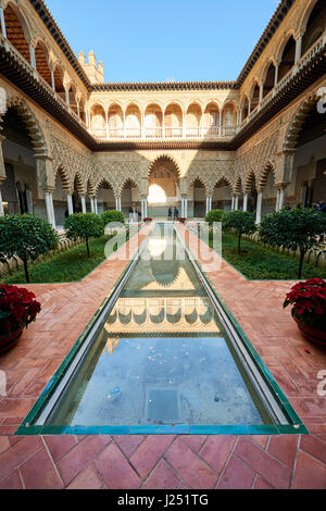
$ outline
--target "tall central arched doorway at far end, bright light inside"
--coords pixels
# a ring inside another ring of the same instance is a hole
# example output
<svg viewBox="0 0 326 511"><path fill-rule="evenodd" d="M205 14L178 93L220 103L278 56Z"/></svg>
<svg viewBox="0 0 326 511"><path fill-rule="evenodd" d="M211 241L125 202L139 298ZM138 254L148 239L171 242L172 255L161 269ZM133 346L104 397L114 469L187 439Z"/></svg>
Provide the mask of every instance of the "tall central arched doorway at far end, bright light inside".
<svg viewBox="0 0 326 511"><path fill-rule="evenodd" d="M148 182L148 214L166 219L168 209L174 210L179 202L179 174L175 163L164 157L156 160L151 165Z"/></svg>

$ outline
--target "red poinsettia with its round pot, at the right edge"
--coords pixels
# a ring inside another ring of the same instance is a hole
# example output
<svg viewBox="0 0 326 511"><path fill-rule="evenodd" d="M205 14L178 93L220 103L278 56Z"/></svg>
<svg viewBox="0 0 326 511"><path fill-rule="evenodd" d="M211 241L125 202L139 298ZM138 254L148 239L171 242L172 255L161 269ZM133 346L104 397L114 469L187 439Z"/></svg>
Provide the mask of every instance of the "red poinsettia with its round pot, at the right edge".
<svg viewBox="0 0 326 511"><path fill-rule="evenodd" d="M326 281L311 278L291 288L284 307L292 307L292 317L312 342L326 346Z"/></svg>

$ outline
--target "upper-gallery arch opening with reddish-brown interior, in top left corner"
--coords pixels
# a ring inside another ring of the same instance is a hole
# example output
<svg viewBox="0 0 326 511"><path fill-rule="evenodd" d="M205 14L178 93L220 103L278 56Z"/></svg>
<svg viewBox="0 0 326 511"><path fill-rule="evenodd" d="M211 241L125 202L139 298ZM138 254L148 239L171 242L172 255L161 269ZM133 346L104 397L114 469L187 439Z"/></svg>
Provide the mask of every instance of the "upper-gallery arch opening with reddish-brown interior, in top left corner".
<svg viewBox="0 0 326 511"><path fill-rule="evenodd" d="M30 63L26 24L24 23L21 15L17 15L10 4L4 10L4 23L8 40L21 53L21 55L23 55L24 59Z"/></svg>

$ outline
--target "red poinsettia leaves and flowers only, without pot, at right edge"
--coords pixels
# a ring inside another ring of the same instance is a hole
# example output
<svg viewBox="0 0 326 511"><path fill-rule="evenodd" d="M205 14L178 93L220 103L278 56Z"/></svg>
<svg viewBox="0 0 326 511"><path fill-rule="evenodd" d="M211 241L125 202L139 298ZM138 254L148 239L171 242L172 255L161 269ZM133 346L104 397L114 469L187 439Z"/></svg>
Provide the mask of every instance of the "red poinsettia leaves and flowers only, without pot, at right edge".
<svg viewBox="0 0 326 511"><path fill-rule="evenodd" d="M284 307L293 306L292 314L303 324L326 328L326 281L310 278L296 284Z"/></svg>

